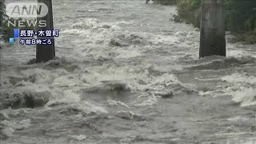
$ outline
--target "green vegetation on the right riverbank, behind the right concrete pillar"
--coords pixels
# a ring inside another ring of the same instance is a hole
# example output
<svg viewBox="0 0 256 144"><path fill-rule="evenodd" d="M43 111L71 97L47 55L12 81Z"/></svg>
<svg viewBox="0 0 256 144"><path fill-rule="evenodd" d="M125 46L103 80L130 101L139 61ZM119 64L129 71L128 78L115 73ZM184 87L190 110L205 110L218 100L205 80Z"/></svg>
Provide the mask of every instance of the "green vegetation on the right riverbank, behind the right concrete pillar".
<svg viewBox="0 0 256 144"><path fill-rule="evenodd" d="M166 2L173 0L159 1ZM235 35L236 41L256 43L256 1L224 0L226 30ZM186 22L200 27L202 0L176 0L177 15L174 22Z"/></svg>

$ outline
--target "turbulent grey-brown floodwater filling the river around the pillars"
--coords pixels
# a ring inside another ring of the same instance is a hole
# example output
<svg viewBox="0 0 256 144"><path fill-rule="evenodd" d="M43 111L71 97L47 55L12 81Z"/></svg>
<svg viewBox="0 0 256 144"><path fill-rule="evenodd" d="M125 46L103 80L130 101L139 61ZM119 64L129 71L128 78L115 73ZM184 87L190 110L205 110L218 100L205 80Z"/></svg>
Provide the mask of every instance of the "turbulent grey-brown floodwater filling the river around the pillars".
<svg viewBox="0 0 256 144"><path fill-rule="evenodd" d="M8 0L9 2L9 0ZM13 2L13 1L12 1ZM54 0L53 61L1 49L1 143L256 143L255 45L198 58L174 6Z"/></svg>

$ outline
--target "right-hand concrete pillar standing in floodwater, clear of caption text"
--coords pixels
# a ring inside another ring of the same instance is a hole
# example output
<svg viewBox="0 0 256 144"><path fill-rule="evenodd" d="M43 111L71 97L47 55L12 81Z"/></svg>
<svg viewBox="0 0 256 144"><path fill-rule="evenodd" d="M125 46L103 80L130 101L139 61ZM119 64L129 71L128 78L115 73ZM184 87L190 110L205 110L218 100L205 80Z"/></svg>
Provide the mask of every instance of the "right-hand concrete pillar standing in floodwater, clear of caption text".
<svg viewBox="0 0 256 144"><path fill-rule="evenodd" d="M224 0L203 0L199 58L226 56Z"/></svg>

